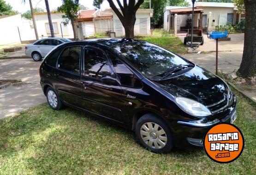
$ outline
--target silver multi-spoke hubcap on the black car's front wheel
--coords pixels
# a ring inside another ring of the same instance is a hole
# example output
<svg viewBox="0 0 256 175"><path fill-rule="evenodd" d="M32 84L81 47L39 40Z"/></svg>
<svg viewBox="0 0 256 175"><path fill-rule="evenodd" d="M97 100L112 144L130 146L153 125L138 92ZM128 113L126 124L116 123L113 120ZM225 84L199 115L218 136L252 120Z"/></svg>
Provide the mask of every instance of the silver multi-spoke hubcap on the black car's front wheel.
<svg viewBox="0 0 256 175"><path fill-rule="evenodd" d="M140 129L140 135L142 140L154 149L161 149L167 144L166 132L153 122L147 122L142 125Z"/></svg>

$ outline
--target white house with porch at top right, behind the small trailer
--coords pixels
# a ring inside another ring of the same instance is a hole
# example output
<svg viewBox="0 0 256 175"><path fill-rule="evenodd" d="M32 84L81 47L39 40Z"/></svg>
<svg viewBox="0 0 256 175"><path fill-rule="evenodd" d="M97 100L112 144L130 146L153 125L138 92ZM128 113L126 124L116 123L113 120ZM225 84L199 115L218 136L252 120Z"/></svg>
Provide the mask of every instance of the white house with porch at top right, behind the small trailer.
<svg viewBox="0 0 256 175"><path fill-rule="evenodd" d="M180 11L187 11L187 14L180 14ZM183 9L183 10L181 10ZM244 14L238 14L238 9L234 6L233 3L220 3L220 2L196 2L195 10L200 12L195 14L194 16L194 26L197 28L206 29L208 26L209 19L209 29L214 29L215 26L225 26L228 24L235 24L243 19ZM191 7L177 7L177 6L166 6L164 9L164 29L170 30L172 29L173 16L175 13L178 14L178 31L182 30L182 28L186 28L188 26L187 21L192 18L192 8ZM170 20L171 19L171 20Z"/></svg>

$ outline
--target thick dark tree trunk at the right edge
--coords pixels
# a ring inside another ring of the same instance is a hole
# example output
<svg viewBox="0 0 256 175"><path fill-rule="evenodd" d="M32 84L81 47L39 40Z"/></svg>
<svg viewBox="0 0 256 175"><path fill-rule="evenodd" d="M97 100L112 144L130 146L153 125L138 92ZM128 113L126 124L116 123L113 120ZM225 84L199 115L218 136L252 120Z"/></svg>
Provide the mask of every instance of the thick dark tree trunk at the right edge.
<svg viewBox="0 0 256 175"><path fill-rule="evenodd" d="M244 0L244 53L238 74L244 78L256 76L256 0Z"/></svg>

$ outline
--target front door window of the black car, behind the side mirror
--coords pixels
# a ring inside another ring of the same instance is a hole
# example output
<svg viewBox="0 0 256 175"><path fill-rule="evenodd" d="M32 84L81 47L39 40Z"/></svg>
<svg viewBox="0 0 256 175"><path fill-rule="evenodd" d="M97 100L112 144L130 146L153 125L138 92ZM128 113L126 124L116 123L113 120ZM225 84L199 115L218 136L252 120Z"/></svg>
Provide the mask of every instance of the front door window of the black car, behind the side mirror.
<svg viewBox="0 0 256 175"><path fill-rule="evenodd" d="M101 79L103 75L111 76L111 69L102 51L87 48L84 52L85 76Z"/></svg>

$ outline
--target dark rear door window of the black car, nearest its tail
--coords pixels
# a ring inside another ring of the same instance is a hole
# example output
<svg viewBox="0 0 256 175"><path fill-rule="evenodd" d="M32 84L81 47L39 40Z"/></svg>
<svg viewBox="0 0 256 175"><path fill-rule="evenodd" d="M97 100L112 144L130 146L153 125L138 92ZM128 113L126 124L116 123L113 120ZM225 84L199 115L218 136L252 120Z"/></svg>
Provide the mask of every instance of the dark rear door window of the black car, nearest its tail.
<svg viewBox="0 0 256 175"><path fill-rule="evenodd" d="M79 60L81 55L81 47L74 46L65 48L58 60L58 68L80 73Z"/></svg>

